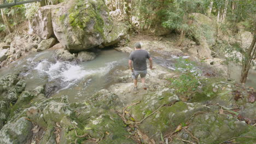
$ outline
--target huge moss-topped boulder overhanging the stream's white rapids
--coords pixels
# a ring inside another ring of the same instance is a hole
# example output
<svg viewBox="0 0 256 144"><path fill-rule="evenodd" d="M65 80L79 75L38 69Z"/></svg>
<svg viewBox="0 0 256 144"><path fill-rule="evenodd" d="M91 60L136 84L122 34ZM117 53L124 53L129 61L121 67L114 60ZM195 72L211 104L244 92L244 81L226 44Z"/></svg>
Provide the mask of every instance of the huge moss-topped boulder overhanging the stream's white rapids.
<svg viewBox="0 0 256 144"><path fill-rule="evenodd" d="M102 44L113 27L102 0L61 3L52 11L52 19L54 34L68 51L79 52Z"/></svg>

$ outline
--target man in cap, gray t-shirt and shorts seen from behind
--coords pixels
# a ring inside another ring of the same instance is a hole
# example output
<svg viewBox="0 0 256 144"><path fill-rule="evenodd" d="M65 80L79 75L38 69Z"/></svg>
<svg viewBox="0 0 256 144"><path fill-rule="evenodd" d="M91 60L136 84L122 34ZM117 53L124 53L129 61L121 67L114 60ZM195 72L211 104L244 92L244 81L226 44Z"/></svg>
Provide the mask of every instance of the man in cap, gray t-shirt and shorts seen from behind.
<svg viewBox="0 0 256 144"><path fill-rule="evenodd" d="M137 90L138 75L141 76L141 81L143 83L143 89L147 89L145 85L146 75L147 75L147 59L150 62L150 69L153 69L153 60L149 56L146 50L141 49L141 44L135 44L135 51L131 52L129 56L129 67L132 71L132 79L134 83L134 89ZM133 68L132 68L133 63Z"/></svg>

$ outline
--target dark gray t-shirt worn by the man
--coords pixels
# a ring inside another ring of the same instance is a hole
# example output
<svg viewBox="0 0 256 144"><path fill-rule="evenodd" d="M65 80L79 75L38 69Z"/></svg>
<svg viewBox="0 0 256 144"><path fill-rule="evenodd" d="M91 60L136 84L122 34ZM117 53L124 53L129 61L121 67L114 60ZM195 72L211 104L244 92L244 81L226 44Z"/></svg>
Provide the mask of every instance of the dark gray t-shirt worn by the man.
<svg viewBox="0 0 256 144"><path fill-rule="evenodd" d="M135 50L129 56L129 59L133 62L134 70L146 70L147 58L150 58L150 56L146 50Z"/></svg>

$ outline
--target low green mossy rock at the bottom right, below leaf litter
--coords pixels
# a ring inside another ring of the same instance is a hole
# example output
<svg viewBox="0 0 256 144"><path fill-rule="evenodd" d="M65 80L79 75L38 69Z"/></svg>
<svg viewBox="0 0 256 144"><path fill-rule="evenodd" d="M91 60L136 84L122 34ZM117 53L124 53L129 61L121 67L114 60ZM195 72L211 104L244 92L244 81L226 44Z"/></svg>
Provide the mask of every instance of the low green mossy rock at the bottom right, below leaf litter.
<svg viewBox="0 0 256 144"><path fill-rule="evenodd" d="M192 131L200 143L218 143L246 133L249 128L235 117L206 113L196 116L188 130Z"/></svg>

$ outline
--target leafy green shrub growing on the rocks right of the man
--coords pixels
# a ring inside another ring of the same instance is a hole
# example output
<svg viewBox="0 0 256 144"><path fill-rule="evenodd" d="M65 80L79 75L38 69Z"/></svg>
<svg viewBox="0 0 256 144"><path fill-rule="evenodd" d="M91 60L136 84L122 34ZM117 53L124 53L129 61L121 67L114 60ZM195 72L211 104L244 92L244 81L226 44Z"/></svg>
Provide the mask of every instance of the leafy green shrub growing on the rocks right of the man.
<svg viewBox="0 0 256 144"><path fill-rule="evenodd" d="M196 91L200 85L201 75L201 71L196 69L196 64L189 59L179 58L176 68L176 71L181 75L178 79L170 79L171 87L175 89L175 92L184 95Z"/></svg>

